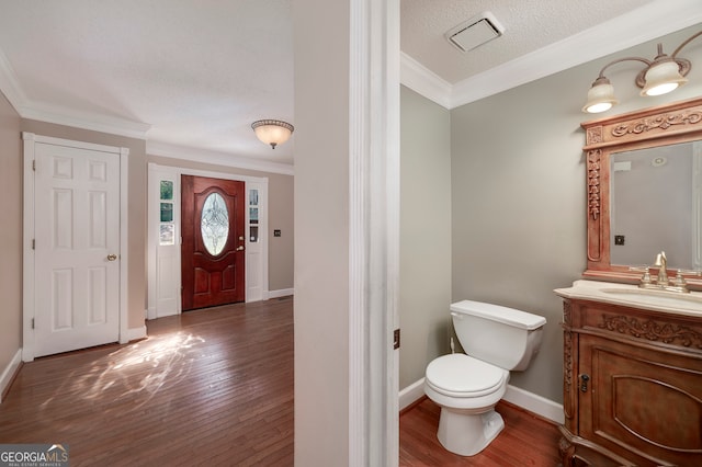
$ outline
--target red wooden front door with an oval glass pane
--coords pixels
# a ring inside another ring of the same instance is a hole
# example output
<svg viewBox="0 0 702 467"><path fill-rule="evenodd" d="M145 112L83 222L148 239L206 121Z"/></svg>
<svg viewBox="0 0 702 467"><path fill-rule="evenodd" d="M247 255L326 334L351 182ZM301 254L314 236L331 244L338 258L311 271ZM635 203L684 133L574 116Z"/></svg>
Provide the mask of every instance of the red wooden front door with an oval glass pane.
<svg viewBox="0 0 702 467"><path fill-rule="evenodd" d="M244 301L245 185L182 175L183 310Z"/></svg>

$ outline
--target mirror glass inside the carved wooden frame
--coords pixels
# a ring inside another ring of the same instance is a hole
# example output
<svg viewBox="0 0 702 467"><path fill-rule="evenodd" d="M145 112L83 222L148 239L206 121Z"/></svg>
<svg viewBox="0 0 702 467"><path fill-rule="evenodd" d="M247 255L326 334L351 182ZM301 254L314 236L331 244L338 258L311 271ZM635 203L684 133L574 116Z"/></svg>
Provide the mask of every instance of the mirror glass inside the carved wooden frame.
<svg viewBox="0 0 702 467"><path fill-rule="evenodd" d="M650 264L652 251L665 251L671 269L701 267L701 160L702 141L611 155L612 264Z"/></svg>

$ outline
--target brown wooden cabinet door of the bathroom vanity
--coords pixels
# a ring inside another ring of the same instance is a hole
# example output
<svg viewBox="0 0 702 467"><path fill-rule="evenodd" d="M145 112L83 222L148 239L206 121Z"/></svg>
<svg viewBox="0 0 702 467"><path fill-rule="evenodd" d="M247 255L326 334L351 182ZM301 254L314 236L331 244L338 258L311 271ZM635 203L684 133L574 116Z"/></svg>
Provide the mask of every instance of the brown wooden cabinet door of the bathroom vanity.
<svg viewBox="0 0 702 467"><path fill-rule="evenodd" d="M582 437L639 466L702 465L699 355L584 334L580 363Z"/></svg>

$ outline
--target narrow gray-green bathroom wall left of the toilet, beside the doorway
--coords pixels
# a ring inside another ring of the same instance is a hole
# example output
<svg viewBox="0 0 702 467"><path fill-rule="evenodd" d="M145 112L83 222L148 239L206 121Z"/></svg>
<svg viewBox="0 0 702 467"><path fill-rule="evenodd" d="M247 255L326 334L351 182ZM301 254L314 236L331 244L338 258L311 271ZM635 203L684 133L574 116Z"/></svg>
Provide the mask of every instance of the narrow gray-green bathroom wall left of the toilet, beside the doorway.
<svg viewBox="0 0 702 467"><path fill-rule="evenodd" d="M399 387L449 352L451 320L451 119L400 89Z"/></svg>

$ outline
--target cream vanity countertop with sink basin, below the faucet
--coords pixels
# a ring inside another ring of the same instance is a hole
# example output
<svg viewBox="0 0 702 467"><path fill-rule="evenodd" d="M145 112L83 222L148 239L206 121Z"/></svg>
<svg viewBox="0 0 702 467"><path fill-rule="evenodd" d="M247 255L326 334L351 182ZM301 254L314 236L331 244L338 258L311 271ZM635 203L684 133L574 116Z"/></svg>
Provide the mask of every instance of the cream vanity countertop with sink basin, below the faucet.
<svg viewBox="0 0 702 467"><path fill-rule="evenodd" d="M700 292L683 294L586 280L575 281L573 287L559 288L555 292L562 297L702 317L702 293Z"/></svg>

